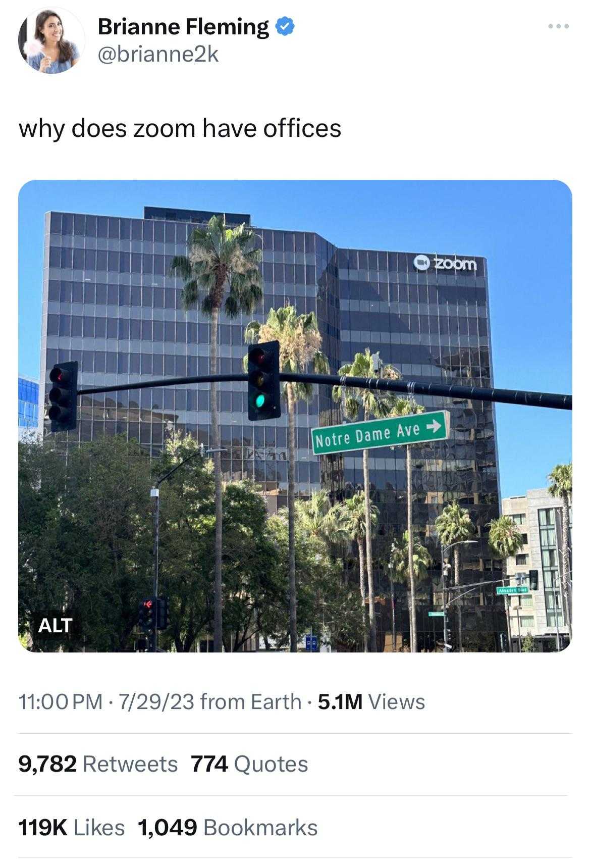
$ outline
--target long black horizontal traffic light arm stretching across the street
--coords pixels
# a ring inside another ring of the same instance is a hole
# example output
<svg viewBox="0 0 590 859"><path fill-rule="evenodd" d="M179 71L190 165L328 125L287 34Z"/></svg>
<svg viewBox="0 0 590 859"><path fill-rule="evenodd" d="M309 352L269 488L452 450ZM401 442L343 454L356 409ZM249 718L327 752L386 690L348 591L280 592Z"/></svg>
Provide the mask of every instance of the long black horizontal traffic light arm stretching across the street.
<svg viewBox="0 0 590 859"><path fill-rule="evenodd" d="M404 381L403 379L370 379L362 376L339 376L315 373L279 373L280 381L302 381L313 385L334 387L361 387L377 391L393 391L453 399L477 399L488 403L510 403L513 405L536 405L544 409L572 411L570 393L545 393L542 391L518 391L514 388L471 387L467 385L445 385L441 382ZM112 393L114 391L137 391L145 387L173 387L175 385L198 385L211 381L248 381L247 373L221 373L216 375L176 376L172 379L140 381L125 385L87 387L78 390L77 396L90 393Z"/></svg>

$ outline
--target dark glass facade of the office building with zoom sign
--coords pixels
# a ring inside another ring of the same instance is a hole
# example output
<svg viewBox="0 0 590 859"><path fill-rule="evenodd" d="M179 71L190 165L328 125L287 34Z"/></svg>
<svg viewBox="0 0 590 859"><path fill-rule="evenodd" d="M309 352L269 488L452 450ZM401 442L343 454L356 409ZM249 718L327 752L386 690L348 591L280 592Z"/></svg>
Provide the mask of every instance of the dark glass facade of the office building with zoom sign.
<svg viewBox="0 0 590 859"><path fill-rule="evenodd" d="M81 387L210 372L209 320L197 311L182 310L182 282L167 277L167 271L175 254L186 253L194 223L211 214L146 208L143 218L46 215L41 348L46 391L53 363L64 360L79 362ZM250 222L250 217L227 213L226 220L231 225ZM422 264L420 270L416 265L423 259L417 252L342 249L311 232L254 229L263 253L265 298L253 318L263 320L271 307L286 300L297 313L313 310L331 371L368 346L404 377L491 387L485 259L477 257L463 266L459 261L464 257L452 256L445 259L457 265L432 265L423 271ZM435 259L436 254L429 257ZM219 372L242 372L243 332L251 318L229 320L222 315ZM240 382L223 383L218 397L221 442L227 448L224 478L254 478L270 510L285 505L286 414L277 421L250 423ZM433 557L440 557L436 516L455 499L469 509L477 545L464 547L461 575L462 582L477 581L493 566L485 527L499 513L493 405L417 399L429 410L451 411L451 437L414 447L415 527ZM174 427L208 444L209 409L208 389L190 386L82 397L75 437L60 436L58 441L69 444L125 433L156 455ZM341 420L326 387L320 387L309 404L298 404L295 478L300 495L325 486L332 497L340 498L362 487L362 454L317 459L311 453L310 428ZM374 502L380 508L375 547L379 557L392 534L406 527L404 450L381 449L370 456L369 466ZM386 579L379 587L388 592ZM427 595L419 619L426 646L435 636L429 601ZM467 628L471 623L474 629L497 633L501 601L482 592L468 602Z"/></svg>

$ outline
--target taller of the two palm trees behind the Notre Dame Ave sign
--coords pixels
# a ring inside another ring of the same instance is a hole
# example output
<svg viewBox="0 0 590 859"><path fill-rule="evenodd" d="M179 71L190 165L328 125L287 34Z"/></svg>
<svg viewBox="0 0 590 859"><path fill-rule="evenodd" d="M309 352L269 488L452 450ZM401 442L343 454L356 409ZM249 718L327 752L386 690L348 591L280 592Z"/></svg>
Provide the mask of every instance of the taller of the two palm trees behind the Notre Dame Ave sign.
<svg viewBox="0 0 590 859"><path fill-rule="evenodd" d="M379 353L377 353L377 362ZM338 370L340 376L368 376L374 375L373 356L371 350L357 352L355 360L349 364L343 364ZM399 379L401 375L392 364L380 366L380 376L384 379ZM332 397L337 402L342 401L344 414L350 420L356 421L359 415L362 420L368 421L371 417L388 417L395 405L396 397L387 391L368 390L360 387L344 387L337 385L332 388ZM371 543L371 484L368 478L368 448L362 451L362 473L365 484L365 519L367 539L367 582L368 582L368 624L370 636L370 650L374 653L377 649L377 625L375 624L374 606L374 579L373 579L373 546Z"/></svg>

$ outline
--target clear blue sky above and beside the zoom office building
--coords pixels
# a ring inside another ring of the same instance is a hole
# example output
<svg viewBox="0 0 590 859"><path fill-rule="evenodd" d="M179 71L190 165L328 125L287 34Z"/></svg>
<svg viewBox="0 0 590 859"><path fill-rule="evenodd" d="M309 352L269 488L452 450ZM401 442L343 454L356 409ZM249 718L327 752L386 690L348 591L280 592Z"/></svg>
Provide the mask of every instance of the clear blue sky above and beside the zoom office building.
<svg viewBox="0 0 590 859"><path fill-rule="evenodd" d="M488 258L496 387L571 393L571 196L559 182L40 181L19 206L19 370L39 376L43 214L249 212L340 247ZM571 413L496 405L502 496L571 460Z"/></svg>

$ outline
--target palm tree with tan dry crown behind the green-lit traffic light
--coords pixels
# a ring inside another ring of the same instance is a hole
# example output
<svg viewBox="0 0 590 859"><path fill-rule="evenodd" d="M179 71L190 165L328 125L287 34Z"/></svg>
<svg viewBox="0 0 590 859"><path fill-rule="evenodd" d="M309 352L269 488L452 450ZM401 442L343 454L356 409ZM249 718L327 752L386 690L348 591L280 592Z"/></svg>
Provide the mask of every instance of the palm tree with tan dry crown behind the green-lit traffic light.
<svg viewBox="0 0 590 859"><path fill-rule="evenodd" d="M279 342L279 365L283 373L302 373L311 364L316 373L329 373L328 359L319 350L322 338L318 320L314 313L297 316L295 307L269 310L266 321L249 322L244 332L246 343ZM247 364L247 356L244 356ZM297 594L295 582L295 403L299 399L308 402L312 397L312 385L308 382L285 382L289 413L289 640L291 653L297 652Z"/></svg>

